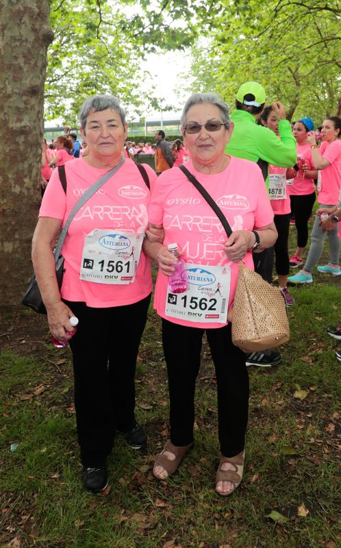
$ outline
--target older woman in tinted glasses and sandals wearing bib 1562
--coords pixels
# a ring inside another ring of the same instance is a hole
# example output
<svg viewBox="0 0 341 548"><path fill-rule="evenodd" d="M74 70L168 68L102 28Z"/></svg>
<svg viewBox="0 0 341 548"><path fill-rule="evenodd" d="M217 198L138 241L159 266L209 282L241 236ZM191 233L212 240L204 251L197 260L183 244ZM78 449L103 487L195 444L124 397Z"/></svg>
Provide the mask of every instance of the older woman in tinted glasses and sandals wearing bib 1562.
<svg viewBox="0 0 341 548"><path fill-rule="evenodd" d="M257 164L224 154L233 125L227 105L213 93L192 95L181 116L186 168L225 214L229 238L199 190L178 167L160 175L149 205L151 227L163 227L164 244L149 251L160 266L154 307L162 318L168 370L170 439L155 457L154 475L173 474L193 443L194 391L206 332L216 370L220 463L216 492L227 497L239 486L249 405L244 353L231 342L229 321L236 291L238 261L253 269L252 250L274 244L273 210ZM185 262L187 290L172 292L169 277L177 258L167 245L176 242ZM234 312L238 314L238 310Z"/></svg>

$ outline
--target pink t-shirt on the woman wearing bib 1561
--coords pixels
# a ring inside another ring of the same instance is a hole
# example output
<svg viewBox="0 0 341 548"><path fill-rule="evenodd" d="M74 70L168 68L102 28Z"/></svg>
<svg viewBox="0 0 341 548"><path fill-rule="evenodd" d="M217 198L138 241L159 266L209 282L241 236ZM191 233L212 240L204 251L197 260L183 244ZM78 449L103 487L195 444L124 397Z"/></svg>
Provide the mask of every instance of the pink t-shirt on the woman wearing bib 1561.
<svg viewBox="0 0 341 548"><path fill-rule="evenodd" d="M153 188L157 179L156 173L150 166L143 165ZM83 158L68 162L65 171L66 196L58 177L58 169L55 169L47 185L39 212L40 217L62 219L63 225L79 197L108 172L105 169L89 166ZM77 212L62 248L65 273L61 295L64 299L84 301L87 306L94 308L105 308L136 303L149 295L152 290L151 264L143 251L132 284L97 284L79 279L86 234L96 228L143 233L148 225L149 197L150 192L136 164L127 158L121 169Z"/></svg>

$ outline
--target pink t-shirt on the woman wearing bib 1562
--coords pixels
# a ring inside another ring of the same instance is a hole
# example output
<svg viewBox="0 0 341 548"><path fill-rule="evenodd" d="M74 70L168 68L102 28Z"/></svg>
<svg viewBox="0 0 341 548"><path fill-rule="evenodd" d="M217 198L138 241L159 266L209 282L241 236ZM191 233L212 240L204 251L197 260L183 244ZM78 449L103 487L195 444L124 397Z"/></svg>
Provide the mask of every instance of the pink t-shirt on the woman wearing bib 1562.
<svg viewBox="0 0 341 548"><path fill-rule="evenodd" d="M210 192L227 217L232 230L252 230L273 221L273 210L268 199L262 172L254 162L232 158L222 173L203 175L195 171L192 162L188 170ZM201 265L229 266L231 286L229 308L233 303L238 277L238 265L232 263L223 251L227 234L218 217L179 168L164 171L153 188L149 205L151 223L162 223L164 245L177 242L186 262ZM244 263L253 270L252 253L247 253ZM154 308L162 318L190 327L223 327L225 323L192 322L166 316L165 303L168 277L161 270L157 275Z"/></svg>

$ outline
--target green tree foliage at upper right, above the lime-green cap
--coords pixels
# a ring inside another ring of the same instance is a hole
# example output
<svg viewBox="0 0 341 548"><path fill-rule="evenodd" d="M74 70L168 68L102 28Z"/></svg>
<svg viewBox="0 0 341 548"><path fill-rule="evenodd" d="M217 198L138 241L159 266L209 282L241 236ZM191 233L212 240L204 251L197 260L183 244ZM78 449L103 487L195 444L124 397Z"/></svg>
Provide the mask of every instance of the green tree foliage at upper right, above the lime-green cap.
<svg viewBox="0 0 341 548"><path fill-rule="evenodd" d="M247 80L264 85L268 102L286 104L288 119L317 122L341 112L340 5L315 0L223 0L209 47L194 51L196 90L217 90L233 105Z"/></svg>

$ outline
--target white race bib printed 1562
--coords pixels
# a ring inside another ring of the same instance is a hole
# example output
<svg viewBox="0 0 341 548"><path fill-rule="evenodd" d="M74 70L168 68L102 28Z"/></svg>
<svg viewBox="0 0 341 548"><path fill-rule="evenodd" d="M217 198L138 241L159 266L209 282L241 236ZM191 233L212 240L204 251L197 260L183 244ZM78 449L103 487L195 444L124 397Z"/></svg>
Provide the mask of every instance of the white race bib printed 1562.
<svg viewBox="0 0 341 548"><path fill-rule="evenodd" d="M202 323L227 323L231 269L185 263L188 289L172 293L168 287L165 314Z"/></svg>

